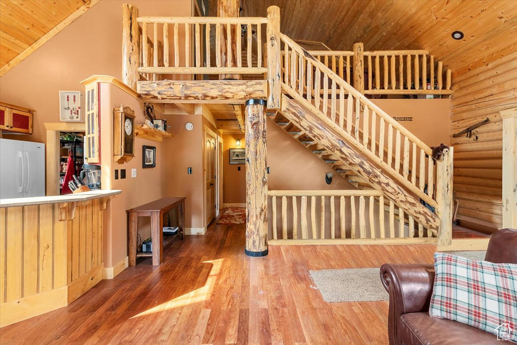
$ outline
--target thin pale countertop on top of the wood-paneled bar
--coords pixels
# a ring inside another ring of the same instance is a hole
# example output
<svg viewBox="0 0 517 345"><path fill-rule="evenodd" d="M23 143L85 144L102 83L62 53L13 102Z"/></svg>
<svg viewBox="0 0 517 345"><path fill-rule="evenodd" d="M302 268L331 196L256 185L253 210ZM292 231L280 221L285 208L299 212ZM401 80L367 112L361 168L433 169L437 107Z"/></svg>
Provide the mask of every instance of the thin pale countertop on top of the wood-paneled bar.
<svg viewBox="0 0 517 345"><path fill-rule="evenodd" d="M103 198L103 197L107 197L107 196L111 196L111 195L117 195L120 193L122 193L122 191L120 191L120 190L100 190L100 191L88 191L88 192L83 192L83 193L66 194L66 195L0 199L0 208L17 207L17 206L31 206L31 205L44 205L46 203L87 201L87 200Z"/></svg>

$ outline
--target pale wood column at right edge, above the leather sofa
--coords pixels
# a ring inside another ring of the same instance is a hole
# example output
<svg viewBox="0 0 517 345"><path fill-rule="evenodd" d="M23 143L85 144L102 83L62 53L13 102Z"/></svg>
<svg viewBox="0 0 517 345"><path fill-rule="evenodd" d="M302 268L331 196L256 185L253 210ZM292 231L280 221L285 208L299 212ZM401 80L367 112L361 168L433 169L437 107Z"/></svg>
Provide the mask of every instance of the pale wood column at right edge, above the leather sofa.
<svg viewBox="0 0 517 345"><path fill-rule="evenodd" d="M517 229L517 108L503 118L503 228Z"/></svg>

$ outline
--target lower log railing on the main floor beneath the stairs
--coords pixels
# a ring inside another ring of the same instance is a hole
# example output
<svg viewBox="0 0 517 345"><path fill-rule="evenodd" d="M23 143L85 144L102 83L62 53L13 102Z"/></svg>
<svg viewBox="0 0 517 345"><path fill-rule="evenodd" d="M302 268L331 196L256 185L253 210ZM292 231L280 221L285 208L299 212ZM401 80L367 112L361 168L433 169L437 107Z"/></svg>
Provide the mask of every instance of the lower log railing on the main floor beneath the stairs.
<svg viewBox="0 0 517 345"><path fill-rule="evenodd" d="M269 191L268 197L270 241L437 237L375 190Z"/></svg>

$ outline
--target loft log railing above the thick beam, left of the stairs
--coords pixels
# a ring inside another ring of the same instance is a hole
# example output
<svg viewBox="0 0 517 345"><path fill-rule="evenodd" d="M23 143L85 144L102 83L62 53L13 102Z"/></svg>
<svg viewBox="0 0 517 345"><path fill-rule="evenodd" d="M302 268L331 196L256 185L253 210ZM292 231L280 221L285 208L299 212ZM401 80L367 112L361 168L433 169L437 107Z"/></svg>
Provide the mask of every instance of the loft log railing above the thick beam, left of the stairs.
<svg viewBox="0 0 517 345"><path fill-rule="evenodd" d="M156 58L157 49L154 51L155 58L152 64L149 64L146 58L147 42L143 40L143 64L138 68L141 73L262 74L267 72L262 61L261 42L261 32L265 29L263 24L267 23L267 18L139 17L137 21L142 25L142 33L151 37L151 42L157 41L159 30L164 42L163 64L160 65ZM255 38L252 37L255 35L253 33L256 34ZM171 40L169 35L173 37ZM215 40L211 40L210 37L215 37ZM245 59L242 58L243 50L246 51ZM254 64L252 52L257 56ZM170 53L173 56L171 60Z"/></svg>

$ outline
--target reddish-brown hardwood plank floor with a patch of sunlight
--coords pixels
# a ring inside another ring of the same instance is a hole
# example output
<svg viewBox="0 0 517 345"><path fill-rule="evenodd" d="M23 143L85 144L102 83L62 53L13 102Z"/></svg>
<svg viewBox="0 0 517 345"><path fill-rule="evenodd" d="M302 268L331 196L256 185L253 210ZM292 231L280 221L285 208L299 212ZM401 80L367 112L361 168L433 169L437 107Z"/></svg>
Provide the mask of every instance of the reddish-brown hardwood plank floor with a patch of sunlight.
<svg viewBox="0 0 517 345"><path fill-rule="evenodd" d="M434 245L270 246L244 225L175 239L70 306L0 330L2 344L387 344L388 302L326 303L309 270L432 263ZM379 284L380 280L379 280Z"/></svg>

